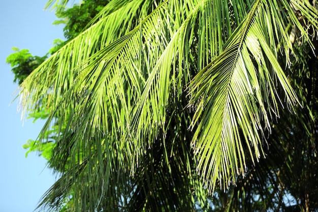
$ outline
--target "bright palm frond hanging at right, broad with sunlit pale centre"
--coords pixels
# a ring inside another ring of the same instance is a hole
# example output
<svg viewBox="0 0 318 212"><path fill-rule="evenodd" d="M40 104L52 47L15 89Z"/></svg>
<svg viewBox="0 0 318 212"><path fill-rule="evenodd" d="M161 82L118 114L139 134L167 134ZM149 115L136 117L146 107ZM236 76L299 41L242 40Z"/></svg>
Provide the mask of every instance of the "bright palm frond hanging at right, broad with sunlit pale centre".
<svg viewBox="0 0 318 212"><path fill-rule="evenodd" d="M314 16L310 19L314 22ZM264 129L270 129L269 120L272 114L279 116L278 104L283 102L278 85L291 110L298 102L277 61L280 53L288 60L292 50L289 24L306 35L286 2L256 1L225 50L190 84L190 105L198 102L193 146L210 191L217 180L226 188L236 174L244 174L246 157L255 163L253 158L264 156Z"/></svg>

